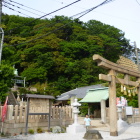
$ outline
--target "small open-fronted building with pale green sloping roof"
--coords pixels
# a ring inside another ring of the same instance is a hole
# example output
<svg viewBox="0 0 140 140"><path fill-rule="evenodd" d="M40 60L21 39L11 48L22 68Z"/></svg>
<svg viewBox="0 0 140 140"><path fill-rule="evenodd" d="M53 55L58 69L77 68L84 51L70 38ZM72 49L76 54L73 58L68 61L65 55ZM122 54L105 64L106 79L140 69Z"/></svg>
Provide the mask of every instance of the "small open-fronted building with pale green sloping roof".
<svg viewBox="0 0 140 140"><path fill-rule="evenodd" d="M95 106L95 111L92 113L94 117L101 118L106 122L106 107L109 106L109 88L89 89L86 96L79 101L80 103L88 103L88 114L90 115L90 107Z"/></svg>

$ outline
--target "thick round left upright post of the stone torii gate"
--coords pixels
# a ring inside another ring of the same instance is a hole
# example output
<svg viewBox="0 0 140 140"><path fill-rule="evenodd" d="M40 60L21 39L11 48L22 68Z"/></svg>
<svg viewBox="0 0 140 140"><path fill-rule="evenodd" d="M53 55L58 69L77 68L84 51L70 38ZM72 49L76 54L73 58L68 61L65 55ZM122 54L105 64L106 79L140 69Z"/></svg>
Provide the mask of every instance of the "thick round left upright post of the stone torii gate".
<svg viewBox="0 0 140 140"><path fill-rule="evenodd" d="M115 71L110 70L111 82L109 83L109 120L110 120L110 136L118 136L117 131L117 107L116 107L116 78Z"/></svg>

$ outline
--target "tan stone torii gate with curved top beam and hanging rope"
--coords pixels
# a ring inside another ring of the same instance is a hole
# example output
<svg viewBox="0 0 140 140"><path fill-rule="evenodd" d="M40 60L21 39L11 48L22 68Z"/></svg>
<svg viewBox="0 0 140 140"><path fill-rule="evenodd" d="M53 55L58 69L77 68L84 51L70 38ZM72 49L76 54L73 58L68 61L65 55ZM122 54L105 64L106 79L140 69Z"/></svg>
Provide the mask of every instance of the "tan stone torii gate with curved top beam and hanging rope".
<svg viewBox="0 0 140 140"><path fill-rule="evenodd" d="M116 108L116 83L121 83L123 85L134 86L138 91L138 105L140 112L140 71L133 70L131 68L118 65L113 63L100 55L93 55L93 60L95 60L98 66L107 69L108 75L99 74L100 80L105 80L109 82L109 109L110 109L110 135L118 136L117 130L117 108ZM117 78L116 74L124 74L124 79ZM131 81L130 76L136 77L137 81Z"/></svg>

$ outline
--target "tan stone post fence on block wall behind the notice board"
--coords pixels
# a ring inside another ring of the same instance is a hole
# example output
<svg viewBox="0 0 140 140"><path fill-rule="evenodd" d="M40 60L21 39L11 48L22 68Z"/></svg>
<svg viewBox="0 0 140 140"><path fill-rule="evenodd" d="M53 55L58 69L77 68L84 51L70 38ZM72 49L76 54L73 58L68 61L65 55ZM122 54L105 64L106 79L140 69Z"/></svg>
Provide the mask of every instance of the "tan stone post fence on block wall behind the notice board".
<svg viewBox="0 0 140 140"><path fill-rule="evenodd" d="M11 135L25 133L26 112L27 106L8 105L8 111L3 125L3 132L8 134L10 133ZM1 113L2 106L0 107L0 114ZM53 106L51 108L50 115L51 127L68 126L73 123L71 106ZM0 127L1 126L2 122L0 121ZM48 115L29 115L28 128L36 131L38 127L41 127L44 130L48 129Z"/></svg>

